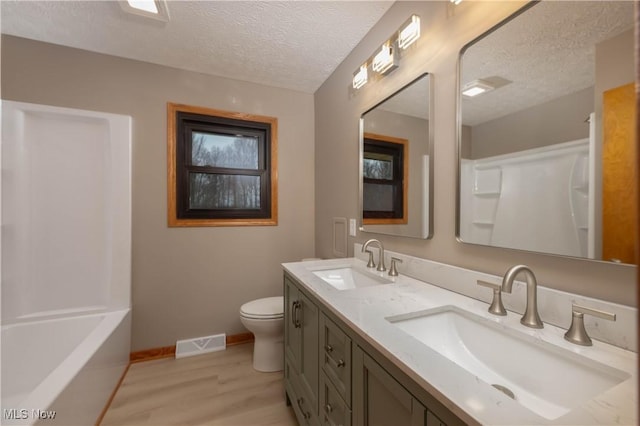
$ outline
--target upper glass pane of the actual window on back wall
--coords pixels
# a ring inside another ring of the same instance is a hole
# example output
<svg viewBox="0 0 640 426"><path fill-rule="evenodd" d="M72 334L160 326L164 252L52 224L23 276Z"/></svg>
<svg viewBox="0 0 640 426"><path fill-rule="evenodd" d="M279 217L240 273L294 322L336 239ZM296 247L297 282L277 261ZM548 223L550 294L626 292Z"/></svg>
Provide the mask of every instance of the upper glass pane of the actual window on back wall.
<svg viewBox="0 0 640 426"><path fill-rule="evenodd" d="M194 166L258 169L258 138L216 133L191 134L191 164Z"/></svg>

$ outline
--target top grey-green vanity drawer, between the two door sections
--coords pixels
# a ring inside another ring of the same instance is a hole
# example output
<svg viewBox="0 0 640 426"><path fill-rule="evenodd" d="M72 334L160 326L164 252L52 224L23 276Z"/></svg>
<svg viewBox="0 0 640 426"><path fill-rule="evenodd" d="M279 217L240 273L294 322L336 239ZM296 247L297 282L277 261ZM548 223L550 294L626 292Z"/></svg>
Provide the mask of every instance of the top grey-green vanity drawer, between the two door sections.
<svg viewBox="0 0 640 426"><path fill-rule="evenodd" d="M351 339L325 315L320 327L322 370L351 407Z"/></svg>

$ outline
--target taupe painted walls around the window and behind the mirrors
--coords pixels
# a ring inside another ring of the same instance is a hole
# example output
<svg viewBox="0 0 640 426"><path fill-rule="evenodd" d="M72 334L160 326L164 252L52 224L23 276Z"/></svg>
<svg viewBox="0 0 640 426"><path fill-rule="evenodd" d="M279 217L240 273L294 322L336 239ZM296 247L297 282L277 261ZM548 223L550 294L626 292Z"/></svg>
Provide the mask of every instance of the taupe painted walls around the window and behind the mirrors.
<svg viewBox="0 0 640 426"><path fill-rule="evenodd" d="M434 79L434 238L379 237L386 248L494 276L525 263L543 286L635 305L633 267L455 240L458 52L525 3L396 2L313 95L3 36L2 95L133 117L134 351L244 331L237 309L280 291L280 262L331 257L332 218L358 217L359 117L423 72ZM424 29L412 55L400 69L348 98L352 71L412 13L421 16ZM278 117L277 227L166 228L167 101ZM348 250L372 235L349 236ZM466 291L488 291L471 281L462 285Z"/></svg>

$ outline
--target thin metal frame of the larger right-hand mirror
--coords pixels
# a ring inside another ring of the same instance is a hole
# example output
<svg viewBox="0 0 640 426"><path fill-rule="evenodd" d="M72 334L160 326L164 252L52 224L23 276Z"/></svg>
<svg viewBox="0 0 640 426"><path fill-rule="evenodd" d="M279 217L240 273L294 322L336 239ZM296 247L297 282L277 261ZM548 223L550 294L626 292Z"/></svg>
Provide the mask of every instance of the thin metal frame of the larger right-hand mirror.
<svg viewBox="0 0 640 426"><path fill-rule="evenodd" d="M476 246L476 247L486 247L486 248L494 248L494 249L500 249L500 250L512 250L512 251L520 252L520 253L530 253L530 254L535 254L535 255L540 255L540 256L551 256L551 257L561 258L561 259L576 259L576 260L582 260L582 261L587 261L587 262L597 262L597 263L602 263L602 264L607 264L607 265L619 265L619 266L622 266L622 267L635 267L636 265L634 263L615 263L615 262L605 261L603 259L591 259L591 258L587 258L587 257L563 255L563 254L556 254L556 253L547 253L547 252L540 252L540 251L533 251L533 250L526 250L526 249L517 249L517 248L511 248L511 247L491 246L491 245L487 245L487 244L480 244L480 243L464 241L460 237L460 218L461 218L461 212L460 212L461 199L460 198L461 198L461 184L462 184L462 84L463 84L462 83L462 56L476 42L478 42L481 39L485 38L489 34L499 30L501 27L503 27L507 23L511 22L512 20L518 18L520 15L522 15L525 12L527 12L529 9L531 9L533 6L535 6L536 4L540 3L541 1L542 0L531 0L529 3L525 4L520 9L518 9L514 13L512 13L511 15L509 15L506 18L502 19L496 25L492 26L488 30L482 32L480 35L478 35L477 37L473 38L471 41L466 43L460 49L460 53L458 54L458 62L456 64L456 155L457 155L457 164L456 164L456 166L457 166L456 167L456 169L457 169L456 170L456 218L455 218L455 220L456 220L456 225L455 225L456 241L458 241L459 243L462 243L462 244L467 244L467 245Z"/></svg>

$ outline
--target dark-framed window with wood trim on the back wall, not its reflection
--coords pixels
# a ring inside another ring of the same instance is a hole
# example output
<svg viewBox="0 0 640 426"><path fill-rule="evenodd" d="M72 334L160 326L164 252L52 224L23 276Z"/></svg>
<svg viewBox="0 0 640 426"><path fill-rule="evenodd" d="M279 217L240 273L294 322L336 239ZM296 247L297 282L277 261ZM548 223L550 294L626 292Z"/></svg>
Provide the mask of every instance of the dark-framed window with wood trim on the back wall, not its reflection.
<svg viewBox="0 0 640 426"><path fill-rule="evenodd" d="M277 119L167 111L169 226L277 225Z"/></svg>

